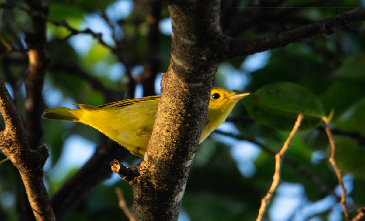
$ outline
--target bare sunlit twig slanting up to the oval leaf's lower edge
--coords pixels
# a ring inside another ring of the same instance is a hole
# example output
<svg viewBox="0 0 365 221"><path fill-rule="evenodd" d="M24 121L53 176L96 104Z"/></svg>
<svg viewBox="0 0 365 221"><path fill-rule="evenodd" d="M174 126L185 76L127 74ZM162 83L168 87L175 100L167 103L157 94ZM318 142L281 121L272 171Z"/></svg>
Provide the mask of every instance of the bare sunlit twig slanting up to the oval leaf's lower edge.
<svg viewBox="0 0 365 221"><path fill-rule="evenodd" d="M270 186L270 189L268 191L268 193L266 194L266 196L264 196L264 198L262 198L261 200L261 206L260 206L260 210L258 212L258 216L256 221L261 221L262 218L264 218L265 215L265 210L269 204L269 201L273 195L273 193L276 191L279 183L280 183L280 172L281 172L281 165L283 163L283 158L285 155L285 152L288 150L291 141L293 140L294 135L296 134L296 132L299 129L300 126L300 122L303 119L303 114L299 114L298 118L295 122L295 125L293 126L292 132L289 134L289 137L287 138L287 140L285 141L283 147L281 148L281 150L275 154L275 173L273 176L273 182Z"/></svg>

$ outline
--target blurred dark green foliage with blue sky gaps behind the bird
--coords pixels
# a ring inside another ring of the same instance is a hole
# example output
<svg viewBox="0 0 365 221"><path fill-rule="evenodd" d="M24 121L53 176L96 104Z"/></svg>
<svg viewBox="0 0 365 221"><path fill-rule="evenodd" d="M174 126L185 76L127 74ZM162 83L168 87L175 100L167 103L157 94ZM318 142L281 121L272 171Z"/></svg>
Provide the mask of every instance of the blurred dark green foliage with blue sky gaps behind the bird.
<svg viewBox="0 0 365 221"><path fill-rule="evenodd" d="M25 118L28 54L24 41L32 28L31 18L23 1L12 4L1 8L0 77ZM49 0L47 4L45 48L49 63L42 109L74 103L97 106L159 93L161 72L168 69L170 59L166 4L144 0ZM254 38L364 4L358 0L223 0L220 24L226 35ZM355 23L332 35L229 60L220 66L215 79L216 86L245 92L275 82L296 83L318 97L325 114L334 109L336 160L345 175L352 214L365 205L364 31L364 23ZM253 121L243 102L227 120L229 123L199 146L181 220L254 220L257 216L261 198L272 182L273 153L281 148L288 132ZM91 168L85 173L95 177L82 177L79 169L85 162L75 159L85 158L85 154L90 157L98 145L108 146L111 155L116 152L115 158L125 165L140 158L85 125L42 120L42 130L41 142L51 154L44 181L52 204L57 206L62 190L73 188L65 182L79 179L90 183L88 189L80 190L80 202L65 214L65 220L127 220L118 208L115 188L123 189L131 205L131 187L116 177L104 182L112 175L110 161L100 163L92 158L88 163L103 166L100 171ZM296 136L284 162L283 182L270 205L269 220L343 220L338 181L327 161L329 150L324 124ZM25 212L18 172L9 162L2 164L0 171L0 220L20 220Z"/></svg>

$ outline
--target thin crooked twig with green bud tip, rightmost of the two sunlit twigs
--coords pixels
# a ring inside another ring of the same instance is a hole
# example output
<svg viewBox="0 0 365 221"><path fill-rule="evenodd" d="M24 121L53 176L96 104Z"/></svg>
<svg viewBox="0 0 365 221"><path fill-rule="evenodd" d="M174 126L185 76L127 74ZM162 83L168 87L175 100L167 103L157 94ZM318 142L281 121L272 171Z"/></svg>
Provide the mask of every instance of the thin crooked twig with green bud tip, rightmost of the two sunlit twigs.
<svg viewBox="0 0 365 221"><path fill-rule="evenodd" d="M328 158L328 161L331 163L336 176L338 178L338 182L341 186L341 201L340 204L342 205L343 208L343 213L345 214L345 218L346 220L349 220L349 210L347 209L347 205L346 205L346 189L345 189L345 185L343 184L343 178L342 178L342 173L341 170L338 168L336 160L335 160L335 154L336 154L336 144L335 141L333 140L333 136L331 133L331 129L330 129L330 118L331 117L323 117L324 122L326 122L326 133L328 136L328 140L330 141L330 145L331 145L331 156L330 158Z"/></svg>

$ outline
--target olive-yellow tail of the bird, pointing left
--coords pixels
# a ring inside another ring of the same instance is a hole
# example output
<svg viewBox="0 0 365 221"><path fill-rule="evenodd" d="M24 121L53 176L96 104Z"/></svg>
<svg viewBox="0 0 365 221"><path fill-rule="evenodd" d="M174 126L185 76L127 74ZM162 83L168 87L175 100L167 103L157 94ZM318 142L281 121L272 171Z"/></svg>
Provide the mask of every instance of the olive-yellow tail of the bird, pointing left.
<svg viewBox="0 0 365 221"><path fill-rule="evenodd" d="M80 109L50 108L43 112L42 117L52 120L81 122L80 119L83 113L84 111Z"/></svg>

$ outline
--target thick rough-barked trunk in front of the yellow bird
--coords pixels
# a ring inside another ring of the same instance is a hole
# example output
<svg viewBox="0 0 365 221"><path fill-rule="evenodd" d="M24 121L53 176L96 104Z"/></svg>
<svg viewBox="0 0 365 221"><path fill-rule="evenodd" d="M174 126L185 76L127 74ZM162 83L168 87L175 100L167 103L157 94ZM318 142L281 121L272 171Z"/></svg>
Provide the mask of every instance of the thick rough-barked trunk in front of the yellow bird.
<svg viewBox="0 0 365 221"><path fill-rule="evenodd" d="M177 220L219 65L219 47L212 45L224 47L222 35L217 34L218 0L168 4L172 53L168 72L162 75L149 146L132 182L137 220Z"/></svg>

